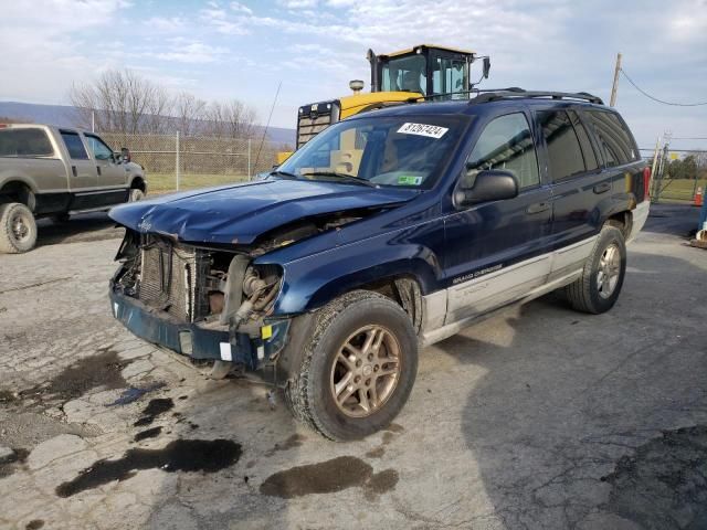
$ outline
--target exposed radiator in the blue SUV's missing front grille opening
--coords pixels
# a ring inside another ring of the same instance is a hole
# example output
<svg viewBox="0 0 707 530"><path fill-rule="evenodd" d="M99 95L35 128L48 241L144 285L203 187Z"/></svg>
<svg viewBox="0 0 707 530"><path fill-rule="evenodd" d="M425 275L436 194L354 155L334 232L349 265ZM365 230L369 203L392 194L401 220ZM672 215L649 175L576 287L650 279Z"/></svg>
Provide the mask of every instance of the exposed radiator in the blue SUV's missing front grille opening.
<svg viewBox="0 0 707 530"><path fill-rule="evenodd" d="M149 236L141 250L139 299L179 320L193 322L208 314L204 251Z"/></svg>

